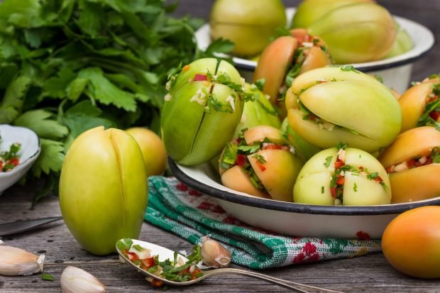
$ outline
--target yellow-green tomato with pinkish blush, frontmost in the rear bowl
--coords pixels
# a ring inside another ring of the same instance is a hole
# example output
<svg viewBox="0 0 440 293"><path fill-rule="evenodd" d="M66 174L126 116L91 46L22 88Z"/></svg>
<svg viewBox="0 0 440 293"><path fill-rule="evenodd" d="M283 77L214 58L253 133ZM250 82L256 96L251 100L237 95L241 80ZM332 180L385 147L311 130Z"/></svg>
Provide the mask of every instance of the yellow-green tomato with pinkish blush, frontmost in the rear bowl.
<svg viewBox="0 0 440 293"><path fill-rule="evenodd" d="M380 60L397 35L391 14L373 2L339 6L307 30L324 40L337 64Z"/></svg>

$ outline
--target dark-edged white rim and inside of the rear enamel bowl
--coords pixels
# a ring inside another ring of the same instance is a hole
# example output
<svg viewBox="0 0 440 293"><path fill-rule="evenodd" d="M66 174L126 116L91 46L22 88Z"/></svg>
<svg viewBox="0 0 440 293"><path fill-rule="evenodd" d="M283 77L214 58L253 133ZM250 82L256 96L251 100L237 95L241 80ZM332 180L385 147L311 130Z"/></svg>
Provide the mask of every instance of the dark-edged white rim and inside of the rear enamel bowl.
<svg viewBox="0 0 440 293"><path fill-rule="evenodd" d="M292 16L295 13L295 11L296 11L295 7L290 7L286 9L287 21L290 21L292 19ZM403 18L401 16L395 16L395 15L393 15L392 17L395 18L397 23L399 23L400 26L402 26L402 28L407 30L407 32L409 33L409 35L411 36L414 42L414 47L411 50L401 55L397 55L395 57L391 57L383 60L377 60L377 61L352 64L357 70L360 70L362 72L373 72L378 70L386 70L393 67L399 67L402 65L407 65L423 57L430 50L432 50L432 48L434 48L436 40L434 34L431 32L431 30L429 30L429 28L423 26L420 23L417 23L416 21L412 21L408 18ZM208 47L208 45L211 43L209 29L210 29L209 23L205 23L195 33L198 46L201 50L205 50ZM413 30L417 33L411 33ZM419 40L420 38L424 41L417 42L416 40ZM219 54L219 57L231 57L231 56L225 54ZM243 59L241 57L232 57L232 60L233 63L236 65L236 67L241 70L253 71L255 70L255 67L257 65L256 61Z"/></svg>

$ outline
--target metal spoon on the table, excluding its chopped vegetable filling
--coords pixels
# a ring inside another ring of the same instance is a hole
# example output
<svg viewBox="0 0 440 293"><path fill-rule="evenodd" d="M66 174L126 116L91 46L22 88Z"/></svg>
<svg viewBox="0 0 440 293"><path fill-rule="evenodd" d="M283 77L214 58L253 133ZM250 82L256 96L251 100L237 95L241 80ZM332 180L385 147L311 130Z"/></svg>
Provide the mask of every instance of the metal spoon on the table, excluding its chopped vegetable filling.
<svg viewBox="0 0 440 293"><path fill-rule="evenodd" d="M150 255L159 255L159 261L164 261L167 259L174 259L174 251L169 250L167 248L164 248L163 246L160 245L156 245L153 243L148 243L145 241L138 241L136 239L132 239L133 241L133 245L138 244L141 245L143 248L147 248L149 250L151 250ZM266 282L270 282L273 284L277 284L280 285L281 287L285 287L288 289L292 289L292 291L294 292L302 292L302 293L307 293L307 292L339 292L339 291L334 291L331 289L324 289L324 288L319 288L319 287L314 287L314 286L309 286L306 284L299 284L296 282L290 282L287 280L282 280L282 279L278 279L276 277L271 277L269 275L263 275L260 274L258 272L253 272L250 270L240 270L240 269L233 269L233 268L221 268L221 269L215 269L215 270L202 270L203 275L201 277L198 277L195 280L189 280L189 281L185 281L185 282L175 282L175 281L170 281L167 280L165 278L162 277L158 277L156 275L151 274L150 272L147 272L146 270L141 269L141 267L138 267L137 265L135 265L133 262L131 262L131 260L129 260L128 258L126 258L125 255L123 255L122 251L119 250L118 246L116 245L116 250L118 251L119 255L121 255L121 257L126 260L129 264L133 265L133 267L136 267L136 270L138 270L138 272L143 273L143 275L146 275L148 277L153 277L154 279L163 281L165 284L170 284L173 286L186 286L189 284L194 284L197 282L200 282L204 279L206 279L207 277L211 277L214 275L226 275L226 274L231 274L231 275L245 275L248 277L254 277L260 280L264 280ZM187 258L185 258L185 256L180 255L179 256L182 258L182 260L184 262L187 261ZM339 292L341 293L341 292Z"/></svg>

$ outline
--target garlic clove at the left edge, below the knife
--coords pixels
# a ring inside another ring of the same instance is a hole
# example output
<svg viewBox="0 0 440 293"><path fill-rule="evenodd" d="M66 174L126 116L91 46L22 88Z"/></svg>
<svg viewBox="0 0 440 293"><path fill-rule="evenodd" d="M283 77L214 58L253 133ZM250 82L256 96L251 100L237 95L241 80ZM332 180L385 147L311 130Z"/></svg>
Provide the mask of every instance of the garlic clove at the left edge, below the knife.
<svg viewBox="0 0 440 293"><path fill-rule="evenodd" d="M43 270L43 262L44 254L38 256L21 248L0 245L0 275L32 275Z"/></svg>

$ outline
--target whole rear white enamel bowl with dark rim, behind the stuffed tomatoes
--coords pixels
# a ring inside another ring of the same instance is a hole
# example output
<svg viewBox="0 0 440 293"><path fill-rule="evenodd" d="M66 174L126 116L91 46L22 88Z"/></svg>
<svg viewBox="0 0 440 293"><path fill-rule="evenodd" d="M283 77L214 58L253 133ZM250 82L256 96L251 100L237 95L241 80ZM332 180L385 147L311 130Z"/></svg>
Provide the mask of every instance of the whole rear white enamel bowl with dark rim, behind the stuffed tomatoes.
<svg viewBox="0 0 440 293"><path fill-rule="evenodd" d="M291 20L294 13L295 8L286 9L287 19ZM393 17L407 31L414 43L414 47L402 55L384 60L356 63L353 66L362 72L382 77L383 83L387 87L403 94L407 90L409 82L411 82L410 78L414 61L434 47L435 39L431 31L421 24L410 21L407 18ZM205 50L209 46L211 43L209 23L197 30L196 39L200 49ZM251 82L257 62L238 57L233 57L232 60L246 81Z"/></svg>

